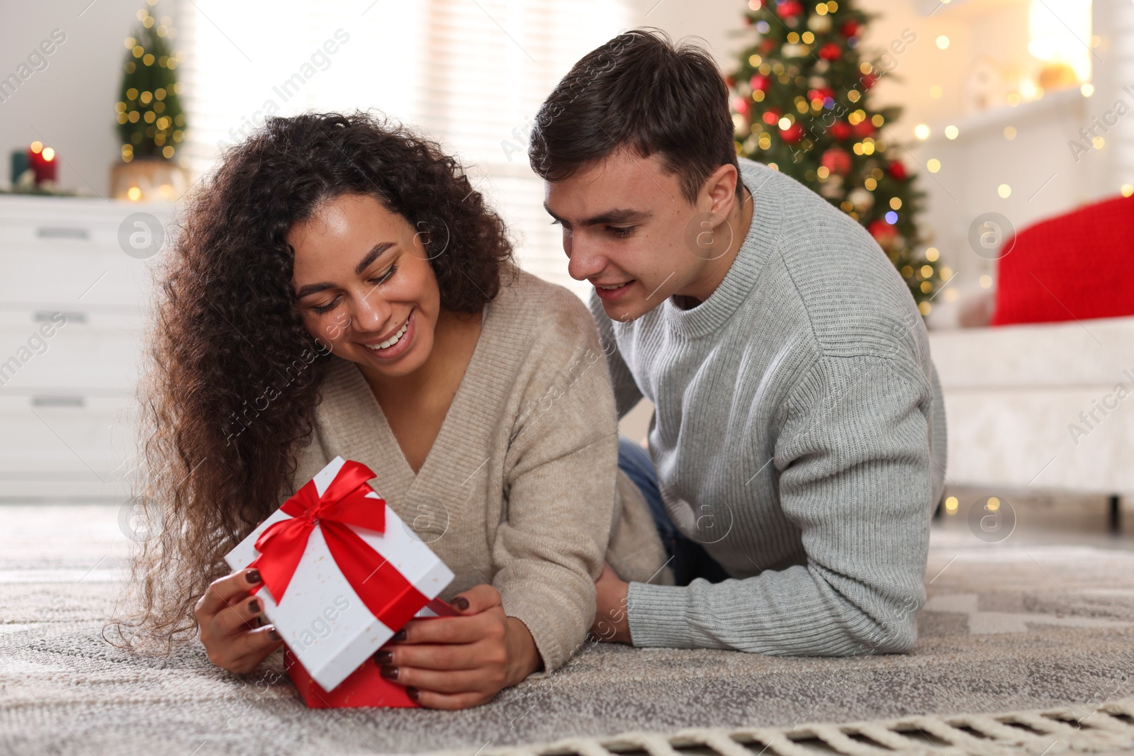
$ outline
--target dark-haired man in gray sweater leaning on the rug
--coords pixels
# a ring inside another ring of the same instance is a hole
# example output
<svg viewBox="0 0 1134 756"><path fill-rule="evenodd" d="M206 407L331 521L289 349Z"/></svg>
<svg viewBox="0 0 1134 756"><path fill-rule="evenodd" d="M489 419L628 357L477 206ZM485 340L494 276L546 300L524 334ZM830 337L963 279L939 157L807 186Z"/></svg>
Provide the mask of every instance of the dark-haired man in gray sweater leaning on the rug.
<svg viewBox="0 0 1134 756"><path fill-rule="evenodd" d="M649 458L624 443L621 465L678 585L608 568L595 630L635 646L908 651L945 416L924 325L879 246L738 160L711 58L654 32L575 65L530 159L572 277L594 286L619 416L654 405Z"/></svg>

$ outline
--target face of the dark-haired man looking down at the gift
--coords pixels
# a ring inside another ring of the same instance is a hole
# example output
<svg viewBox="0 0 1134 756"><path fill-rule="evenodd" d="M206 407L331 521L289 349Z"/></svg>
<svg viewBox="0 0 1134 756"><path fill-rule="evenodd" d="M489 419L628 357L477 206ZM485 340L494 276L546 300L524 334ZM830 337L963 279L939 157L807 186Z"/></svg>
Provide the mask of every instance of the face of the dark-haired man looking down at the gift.
<svg viewBox="0 0 1134 756"><path fill-rule="evenodd" d="M703 193L691 204L658 155L619 150L547 181L543 206L562 227L567 271L595 287L611 320L632 321L686 294L712 258L697 240L712 199Z"/></svg>

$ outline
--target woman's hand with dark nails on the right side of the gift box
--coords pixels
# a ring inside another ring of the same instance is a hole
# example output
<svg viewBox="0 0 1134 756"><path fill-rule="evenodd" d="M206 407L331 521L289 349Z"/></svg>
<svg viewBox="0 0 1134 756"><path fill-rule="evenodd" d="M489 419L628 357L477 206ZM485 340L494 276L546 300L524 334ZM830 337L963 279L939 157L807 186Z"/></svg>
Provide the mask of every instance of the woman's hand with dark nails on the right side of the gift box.
<svg viewBox="0 0 1134 756"><path fill-rule="evenodd" d="M527 627L507 617L500 594L479 585L449 602L459 617L411 620L374 661L382 677L430 708L467 708L492 699L542 665Z"/></svg>

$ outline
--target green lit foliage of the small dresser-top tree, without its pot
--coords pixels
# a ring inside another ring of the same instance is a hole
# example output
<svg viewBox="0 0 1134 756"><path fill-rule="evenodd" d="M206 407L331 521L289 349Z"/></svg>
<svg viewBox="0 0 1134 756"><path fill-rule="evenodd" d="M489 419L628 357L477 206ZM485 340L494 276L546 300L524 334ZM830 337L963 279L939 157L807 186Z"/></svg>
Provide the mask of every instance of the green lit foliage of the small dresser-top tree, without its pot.
<svg viewBox="0 0 1134 756"><path fill-rule="evenodd" d="M150 6L156 0L147 0ZM126 37L122 86L115 110L122 142L122 161L170 159L185 137L185 113L178 97L177 56L168 40L176 32L166 16L159 23L145 8L138 28Z"/></svg>

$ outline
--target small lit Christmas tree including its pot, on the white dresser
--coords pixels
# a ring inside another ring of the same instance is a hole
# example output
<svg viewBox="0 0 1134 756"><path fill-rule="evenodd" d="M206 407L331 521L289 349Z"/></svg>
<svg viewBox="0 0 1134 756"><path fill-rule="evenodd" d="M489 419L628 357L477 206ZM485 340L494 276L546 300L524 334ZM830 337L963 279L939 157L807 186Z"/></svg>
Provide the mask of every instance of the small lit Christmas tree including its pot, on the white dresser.
<svg viewBox="0 0 1134 756"><path fill-rule="evenodd" d="M146 0L153 6L158 0ZM122 84L115 117L121 139L121 162L111 172L118 199L176 199L188 186L187 172L176 162L185 143L185 113L177 82L178 53L169 40L171 19L137 12L134 36L126 37Z"/></svg>

